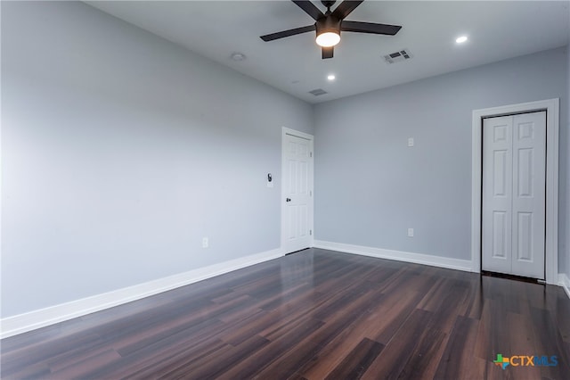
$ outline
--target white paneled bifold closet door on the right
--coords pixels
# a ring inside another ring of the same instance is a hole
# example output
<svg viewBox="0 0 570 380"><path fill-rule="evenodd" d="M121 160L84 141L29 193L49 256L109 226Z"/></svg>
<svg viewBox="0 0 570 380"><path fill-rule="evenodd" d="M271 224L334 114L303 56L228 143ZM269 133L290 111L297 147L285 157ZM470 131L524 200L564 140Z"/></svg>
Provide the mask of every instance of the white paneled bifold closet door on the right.
<svg viewBox="0 0 570 380"><path fill-rule="evenodd" d="M483 122L482 268L544 279L546 112Z"/></svg>

